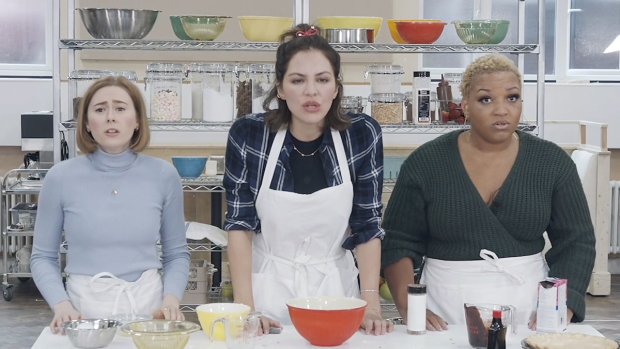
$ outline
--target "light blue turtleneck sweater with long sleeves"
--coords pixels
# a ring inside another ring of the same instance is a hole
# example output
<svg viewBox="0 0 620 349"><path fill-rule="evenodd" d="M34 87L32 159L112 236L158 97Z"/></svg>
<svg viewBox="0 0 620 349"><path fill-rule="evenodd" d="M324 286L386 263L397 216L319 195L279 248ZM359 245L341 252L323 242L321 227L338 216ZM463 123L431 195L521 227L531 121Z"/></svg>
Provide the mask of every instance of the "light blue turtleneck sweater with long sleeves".
<svg viewBox="0 0 620 349"><path fill-rule="evenodd" d="M183 297L189 272L183 192L168 162L97 150L50 169L39 196L31 269L51 307L69 299L58 265L63 231L67 273L110 272L133 282L163 267L164 294Z"/></svg>

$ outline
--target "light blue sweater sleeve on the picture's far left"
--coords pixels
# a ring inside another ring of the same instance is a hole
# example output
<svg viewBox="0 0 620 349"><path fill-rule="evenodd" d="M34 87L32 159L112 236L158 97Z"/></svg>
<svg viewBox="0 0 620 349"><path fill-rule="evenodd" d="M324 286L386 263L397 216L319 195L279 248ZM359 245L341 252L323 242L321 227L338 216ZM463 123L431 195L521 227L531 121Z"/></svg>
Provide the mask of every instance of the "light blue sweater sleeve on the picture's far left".
<svg viewBox="0 0 620 349"><path fill-rule="evenodd" d="M69 299L62 284L58 261L64 225L62 177L60 167L56 166L49 170L43 181L30 259L32 278L52 308Z"/></svg>

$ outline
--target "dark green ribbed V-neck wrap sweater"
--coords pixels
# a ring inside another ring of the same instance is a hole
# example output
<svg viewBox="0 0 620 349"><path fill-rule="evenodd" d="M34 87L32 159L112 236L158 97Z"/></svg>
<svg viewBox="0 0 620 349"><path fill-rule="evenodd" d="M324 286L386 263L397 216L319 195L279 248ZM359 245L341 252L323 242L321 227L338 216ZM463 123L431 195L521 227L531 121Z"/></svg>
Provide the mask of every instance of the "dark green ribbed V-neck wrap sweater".
<svg viewBox="0 0 620 349"><path fill-rule="evenodd" d="M549 276L568 279L573 321L583 321L595 237L577 169L557 145L519 132L519 153L491 206L469 178L455 131L414 151L403 163L383 220L382 269L403 257L480 260L539 253L547 232Z"/></svg>

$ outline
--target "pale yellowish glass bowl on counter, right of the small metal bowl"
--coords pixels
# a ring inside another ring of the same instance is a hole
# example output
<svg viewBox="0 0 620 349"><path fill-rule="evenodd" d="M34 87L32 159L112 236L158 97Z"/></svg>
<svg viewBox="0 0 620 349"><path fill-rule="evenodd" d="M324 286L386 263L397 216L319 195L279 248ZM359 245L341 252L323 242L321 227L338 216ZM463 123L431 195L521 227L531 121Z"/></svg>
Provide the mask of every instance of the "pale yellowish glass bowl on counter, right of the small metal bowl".
<svg viewBox="0 0 620 349"><path fill-rule="evenodd" d="M189 335L198 330L200 326L193 322L173 320L138 321L121 327L138 349L183 349Z"/></svg>

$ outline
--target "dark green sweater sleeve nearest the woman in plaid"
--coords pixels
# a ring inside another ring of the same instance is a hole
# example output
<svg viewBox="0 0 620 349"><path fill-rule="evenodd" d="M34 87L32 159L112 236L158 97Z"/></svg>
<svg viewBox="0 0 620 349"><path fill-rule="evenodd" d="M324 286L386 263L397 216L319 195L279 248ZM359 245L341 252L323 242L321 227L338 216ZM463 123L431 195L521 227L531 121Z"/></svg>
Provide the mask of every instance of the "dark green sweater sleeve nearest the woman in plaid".
<svg viewBox="0 0 620 349"><path fill-rule="evenodd" d="M409 160L409 159L408 159ZM428 222L426 202L421 186L411 172L406 170L405 161L396 181L383 219L385 237L381 243L381 270L404 257L413 260L418 268L426 255Z"/></svg>

